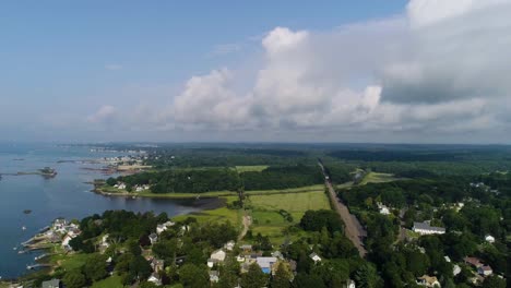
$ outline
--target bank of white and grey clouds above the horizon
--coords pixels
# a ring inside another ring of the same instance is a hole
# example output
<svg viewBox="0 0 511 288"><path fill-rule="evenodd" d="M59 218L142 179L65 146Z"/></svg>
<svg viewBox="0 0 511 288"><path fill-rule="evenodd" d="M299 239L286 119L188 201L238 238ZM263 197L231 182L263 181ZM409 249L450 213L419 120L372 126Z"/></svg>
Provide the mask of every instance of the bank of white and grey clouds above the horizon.
<svg viewBox="0 0 511 288"><path fill-rule="evenodd" d="M426 134L502 135L511 121L509 15L507 0L412 0L403 15L332 31L275 27L262 38L250 77L240 68L192 76L169 106L154 108L151 125L404 133L415 142ZM121 116L108 106L88 121L112 117Z"/></svg>

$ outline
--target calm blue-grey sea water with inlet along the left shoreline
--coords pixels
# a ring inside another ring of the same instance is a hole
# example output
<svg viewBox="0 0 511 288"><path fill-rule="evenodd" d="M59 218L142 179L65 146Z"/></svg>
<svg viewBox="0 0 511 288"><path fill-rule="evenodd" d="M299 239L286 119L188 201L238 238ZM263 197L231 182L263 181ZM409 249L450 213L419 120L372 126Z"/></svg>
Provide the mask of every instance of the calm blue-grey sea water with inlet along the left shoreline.
<svg viewBox="0 0 511 288"><path fill-rule="evenodd" d="M200 211L189 202L153 199L107 197L91 192L94 179L108 178L100 165L58 163L121 156L122 153L90 152L86 147L52 144L0 144L0 173L55 168L52 179L41 176L3 176L0 180L0 277L19 277L41 252L19 254L14 248L48 226L57 217L80 219L106 209L166 212L169 216ZM31 214L24 214L31 209ZM23 230L22 227L26 229Z"/></svg>

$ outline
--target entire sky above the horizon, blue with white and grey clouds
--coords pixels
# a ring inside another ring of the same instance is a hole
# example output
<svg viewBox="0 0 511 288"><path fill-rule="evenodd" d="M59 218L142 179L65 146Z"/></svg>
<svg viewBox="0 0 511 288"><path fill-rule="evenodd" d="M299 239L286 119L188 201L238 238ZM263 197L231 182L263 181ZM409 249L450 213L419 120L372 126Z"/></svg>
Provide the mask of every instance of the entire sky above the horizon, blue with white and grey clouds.
<svg viewBox="0 0 511 288"><path fill-rule="evenodd" d="M511 144L511 0L2 1L0 142Z"/></svg>

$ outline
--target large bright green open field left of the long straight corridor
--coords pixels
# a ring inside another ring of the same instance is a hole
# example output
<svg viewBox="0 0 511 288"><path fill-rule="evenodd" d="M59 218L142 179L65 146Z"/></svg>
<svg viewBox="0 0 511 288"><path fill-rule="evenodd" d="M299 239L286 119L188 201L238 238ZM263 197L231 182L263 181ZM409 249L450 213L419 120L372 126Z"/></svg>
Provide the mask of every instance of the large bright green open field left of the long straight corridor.
<svg viewBox="0 0 511 288"><path fill-rule="evenodd" d="M284 241L283 229L300 221L308 209L330 209L329 199L324 190L289 194L250 195L248 205L252 208L253 235L269 236L271 241L280 244ZM293 216L293 221L286 220L278 211L284 209ZM290 238L297 238L293 235Z"/></svg>

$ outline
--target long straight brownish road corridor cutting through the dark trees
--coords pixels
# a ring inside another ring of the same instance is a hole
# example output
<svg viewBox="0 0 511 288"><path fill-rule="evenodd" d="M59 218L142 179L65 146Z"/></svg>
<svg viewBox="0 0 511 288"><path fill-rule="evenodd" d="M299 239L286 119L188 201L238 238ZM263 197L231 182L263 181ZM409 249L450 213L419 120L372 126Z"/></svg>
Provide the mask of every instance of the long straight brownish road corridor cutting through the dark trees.
<svg viewBox="0 0 511 288"><path fill-rule="evenodd" d="M344 233L353 242L355 248L358 250L358 253L360 254L360 256L364 257L367 251L364 248L363 237L366 237L367 232L364 229L364 227L360 225L360 223L358 221L357 217L350 214L346 205L344 205L344 203L342 203L337 199L335 189L333 188L332 182L330 181L330 178L326 175L323 164L321 161L319 161L319 166L321 167L321 171L323 172L323 176L325 178L324 184L329 189L329 195L330 195L332 205L334 206L335 211L338 213L338 215L344 221L344 225L345 225Z"/></svg>

